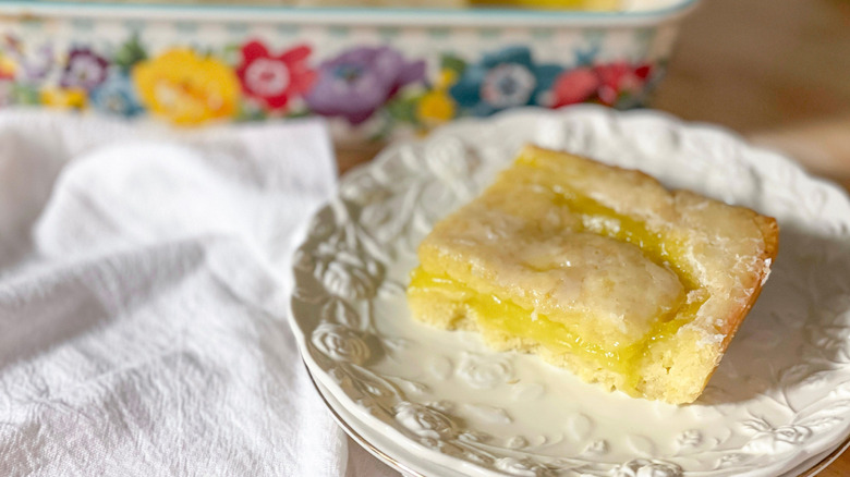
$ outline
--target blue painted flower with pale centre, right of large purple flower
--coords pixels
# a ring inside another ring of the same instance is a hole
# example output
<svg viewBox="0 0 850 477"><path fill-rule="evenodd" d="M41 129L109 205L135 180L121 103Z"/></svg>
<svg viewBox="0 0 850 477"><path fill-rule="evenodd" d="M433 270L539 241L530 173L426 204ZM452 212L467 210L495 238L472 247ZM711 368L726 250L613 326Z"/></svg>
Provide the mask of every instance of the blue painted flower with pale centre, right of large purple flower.
<svg viewBox="0 0 850 477"><path fill-rule="evenodd" d="M547 93L561 71L554 64L534 64L527 47L507 47L467 66L449 93L475 115L518 106L548 106Z"/></svg>

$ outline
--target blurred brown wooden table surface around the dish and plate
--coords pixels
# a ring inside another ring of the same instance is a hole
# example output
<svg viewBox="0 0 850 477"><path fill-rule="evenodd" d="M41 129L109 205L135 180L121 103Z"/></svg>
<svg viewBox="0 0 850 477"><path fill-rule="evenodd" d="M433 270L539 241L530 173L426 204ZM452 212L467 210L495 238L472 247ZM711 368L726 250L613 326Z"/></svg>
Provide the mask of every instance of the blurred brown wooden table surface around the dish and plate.
<svg viewBox="0 0 850 477"><path fill-rule="evenodd" d="M850 0L703 0L652 106L729 127L850 189ZM340 169L375 151L340 151ZM850 476L850 451L818 476Z"/></svg>

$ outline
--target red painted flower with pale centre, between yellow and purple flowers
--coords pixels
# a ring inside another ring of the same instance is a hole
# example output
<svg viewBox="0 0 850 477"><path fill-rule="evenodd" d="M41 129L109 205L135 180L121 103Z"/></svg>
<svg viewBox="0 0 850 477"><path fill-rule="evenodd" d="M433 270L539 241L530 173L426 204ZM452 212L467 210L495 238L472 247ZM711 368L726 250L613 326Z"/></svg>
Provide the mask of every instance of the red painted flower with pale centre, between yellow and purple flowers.
<svg viewBox="0 0 850 477"><path fill-rule="evenodd" d="M284 108L290 99L309 90L316 80L316 72L306 64L309 53L305 45L272 56L259 41L245 44L236 69L242 89L270 109Z"/></svg>

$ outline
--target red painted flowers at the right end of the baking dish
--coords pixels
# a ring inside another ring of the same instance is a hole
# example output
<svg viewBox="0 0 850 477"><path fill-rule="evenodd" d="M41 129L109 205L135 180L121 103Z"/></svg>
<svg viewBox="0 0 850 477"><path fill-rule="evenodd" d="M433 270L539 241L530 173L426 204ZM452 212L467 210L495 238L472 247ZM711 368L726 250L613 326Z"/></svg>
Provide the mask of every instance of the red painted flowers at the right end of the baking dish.
<svg viewBox="0 0 850 477"><path fill-rule="evenodd" d="M614 106L623 96L640 95L651 74L651 64L635 66L622 61L569 70L552 85L551 107L590 100Z"/></svg>

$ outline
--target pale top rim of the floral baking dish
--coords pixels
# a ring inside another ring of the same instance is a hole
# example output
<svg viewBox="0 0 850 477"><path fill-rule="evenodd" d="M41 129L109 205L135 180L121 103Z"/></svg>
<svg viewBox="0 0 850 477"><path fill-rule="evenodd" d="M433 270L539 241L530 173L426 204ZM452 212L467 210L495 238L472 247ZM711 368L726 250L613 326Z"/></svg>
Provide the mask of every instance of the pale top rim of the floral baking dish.
<svg viewBox="0 0 850 477"><path fill-rule="evenodd" d="M700 0L615 12L522 9L308 8L287 5L160 4L57 0L0 0L0 21L93 17L349 25L611 27L656 25L687 14Z"/></svg>

